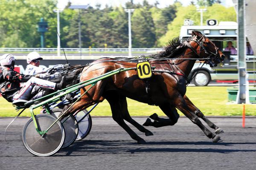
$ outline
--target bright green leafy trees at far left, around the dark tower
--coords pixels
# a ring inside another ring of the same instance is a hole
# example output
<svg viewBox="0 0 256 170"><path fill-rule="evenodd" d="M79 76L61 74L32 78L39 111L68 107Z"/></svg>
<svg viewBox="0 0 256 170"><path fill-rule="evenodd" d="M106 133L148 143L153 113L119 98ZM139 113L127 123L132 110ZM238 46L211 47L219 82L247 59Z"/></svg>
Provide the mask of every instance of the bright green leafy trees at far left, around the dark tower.
<svg viewBox="0 0 256 170"><path fill-rule="evenodd" d="M49 19L56 6L56 0L1 0L0 30L1 47L39 47L40 34L37 23L41 17ZM8 9L8 10L7 10ZM48 20L51 28L52 20ZM52 40L52 29L45 34L46 40ZM52 43L52 42L47 42Z"/></svg>

